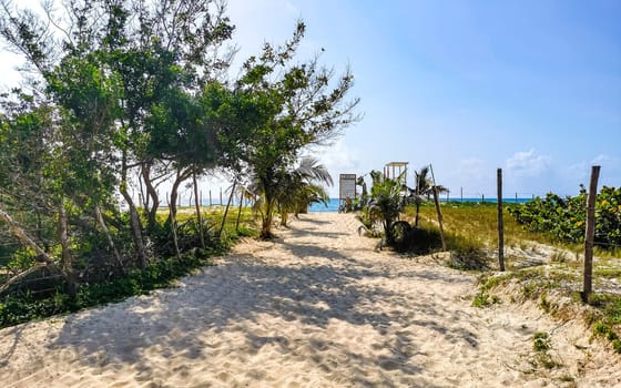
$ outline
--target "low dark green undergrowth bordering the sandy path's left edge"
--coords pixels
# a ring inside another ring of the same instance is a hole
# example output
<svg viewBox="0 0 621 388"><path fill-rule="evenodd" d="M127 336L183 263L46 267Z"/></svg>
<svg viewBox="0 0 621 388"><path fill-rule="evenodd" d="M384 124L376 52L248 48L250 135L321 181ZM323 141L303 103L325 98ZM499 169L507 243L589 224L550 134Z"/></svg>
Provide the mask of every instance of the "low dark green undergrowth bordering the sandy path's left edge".
<svg viewBox="0 0 621 388"><path fill-rule="evenodd" d="M100 252L101 257L92 257L86 267L79 269L80 279L75 298L67 294L62 278L33 273L35 283L26 278L0 296L0 328L89 306L120 302L132 295L142 295L155 288L167 287L174 279L190 274L193 269L210 265L210 257L226 252L238 236L256 235L256 231L250 228L246 223L251 217L250 211L246 211L244 223L240 227L235 227L235 224L228 221L223 236L216 237L212 226L220 224L217 218L221 216L217 214L215 221L204 221L205 249L200 247L196 219L187 215L179 216L180 224L176 228L181 252L179 258L170 224L157 223L150 235L153 256L150 265L144 269L134 266L118 270L109 253ZM96 254L99 251L91 252ZM31 262L21 263L17 258L13 262L12 265L23 264L26 267L32 265Z"/></svg>

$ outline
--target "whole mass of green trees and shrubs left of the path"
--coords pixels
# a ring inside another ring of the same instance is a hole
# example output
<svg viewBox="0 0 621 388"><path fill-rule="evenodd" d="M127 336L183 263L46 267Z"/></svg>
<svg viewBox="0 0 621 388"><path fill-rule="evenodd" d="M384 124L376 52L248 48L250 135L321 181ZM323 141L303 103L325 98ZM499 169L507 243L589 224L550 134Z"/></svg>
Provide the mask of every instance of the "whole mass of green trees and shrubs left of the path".
<svg viewBox="0 0 621 388"><path fill-rule="evenodd" d="M187 185L197 198L206 173L253 182L263 238L276 212L325 197L329 175L302 155L359 119L352 73L297 58L298 22L233 78L224 6L70 0L40 13L0 1L0 35L30 74L0 98L0 298L37 277L54 279L40 295L79 300L93 282L205 257L225 219L214 226L198 203L180 218L177 197Z"/></svg>

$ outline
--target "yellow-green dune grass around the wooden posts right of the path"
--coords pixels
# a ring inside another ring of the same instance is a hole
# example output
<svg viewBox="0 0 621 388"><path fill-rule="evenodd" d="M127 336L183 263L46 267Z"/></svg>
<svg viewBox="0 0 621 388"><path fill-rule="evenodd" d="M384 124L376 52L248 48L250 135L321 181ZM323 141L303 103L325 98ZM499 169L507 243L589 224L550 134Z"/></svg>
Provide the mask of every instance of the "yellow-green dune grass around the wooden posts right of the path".
<svg viewBox="0 0 621 388"><path fill-rule="evenodd" d="M442 204L444 228L448 248L474 246L492 253L498 245L496 204ZM413 221L414 207L408 207L405 217ZM505 246L517 254L507 255L506 273L485 272L478 282L478 292L472 304L487 307L526 299L536 300L539 308L560 319L580 316L592 330L592 338L603 338L621 354L621 252L595 248L593 261L593 287L587 305L581 300L583 246L562 244L542 234L526 232L505 210ZM419 224L437 227L437 214L432 204L420 207ZM452 244L452 246L451 246ZM548 249L546 246L551 246ZM542 257L523 263L522 256ZM508 289L512 289L507 294ZM517 289L517 294L516 290ZM560 303L564 298L571 303ZM579 308L584 307L584 308ZM577 315L578 314L578 315Z"/></svg>

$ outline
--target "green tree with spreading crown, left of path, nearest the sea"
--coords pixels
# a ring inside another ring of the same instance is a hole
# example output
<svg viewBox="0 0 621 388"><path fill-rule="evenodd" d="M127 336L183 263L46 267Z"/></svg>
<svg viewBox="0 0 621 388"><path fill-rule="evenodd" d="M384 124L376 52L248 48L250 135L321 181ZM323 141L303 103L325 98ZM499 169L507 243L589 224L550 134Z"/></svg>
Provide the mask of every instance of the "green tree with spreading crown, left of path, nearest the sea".
<svg viewBox="0 0 621 388"><path fill-rule="evenodd" d="M355 113L358 100L346 100L354 79L349 71L330 88L333 71L319 67L317 58L291 64L304 32L304 23L298 22L292 40L283 47L266 44L259 58L245 62L236 84L259 108L254 110L262 119L258 125L245 127L247 141L237 142L243 144L240 160L256 176L262 195L262 238L272 237L282 177L301 152L329 143L359 120Z"/></svg>

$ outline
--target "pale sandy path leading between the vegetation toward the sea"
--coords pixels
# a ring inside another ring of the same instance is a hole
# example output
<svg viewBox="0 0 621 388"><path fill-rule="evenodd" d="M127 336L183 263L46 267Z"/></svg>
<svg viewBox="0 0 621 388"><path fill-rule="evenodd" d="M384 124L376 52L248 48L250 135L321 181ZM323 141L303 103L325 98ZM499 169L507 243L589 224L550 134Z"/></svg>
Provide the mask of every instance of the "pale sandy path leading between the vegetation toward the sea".
<svg viewBox="0 0 621 388"><path fill-rule="evenodd" d="M581 325L471 307L472 275L375 252L357 226L304 215L179 288L2 329L0 386L621 386L621 358ZM535 331L562 366L532 366Z"/></svg>

